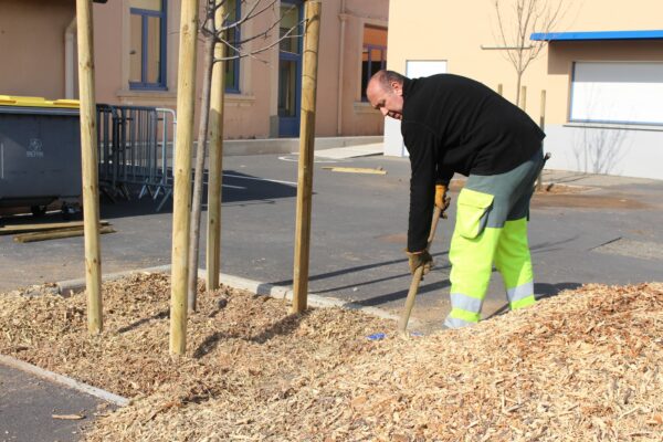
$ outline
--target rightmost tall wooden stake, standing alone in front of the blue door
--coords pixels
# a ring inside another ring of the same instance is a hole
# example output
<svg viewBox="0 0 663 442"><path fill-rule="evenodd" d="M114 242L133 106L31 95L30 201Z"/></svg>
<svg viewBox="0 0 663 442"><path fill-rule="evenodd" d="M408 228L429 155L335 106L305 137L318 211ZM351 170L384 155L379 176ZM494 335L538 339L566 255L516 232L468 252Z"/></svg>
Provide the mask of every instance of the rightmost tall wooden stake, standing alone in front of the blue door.
<svg viewBox="0 0 663 442"><path fill-rule="evenodd" d="M299 128L293 313L302 313L306 309L308 296L313 156L315 148L315 98L322 1L307 0L305 2L305 11L306 31L304 34L304 66L302 71L302 123Z"/></svg>

